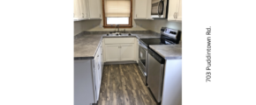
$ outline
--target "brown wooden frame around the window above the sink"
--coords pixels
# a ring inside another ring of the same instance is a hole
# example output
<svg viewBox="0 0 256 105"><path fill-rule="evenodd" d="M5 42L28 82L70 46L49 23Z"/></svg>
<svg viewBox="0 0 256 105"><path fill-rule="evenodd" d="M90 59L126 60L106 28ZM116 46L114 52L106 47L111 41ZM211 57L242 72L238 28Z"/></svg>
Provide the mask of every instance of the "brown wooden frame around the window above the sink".
<svg viewBox="0 0 256 105"><path fill-rule="evenodd" d="M116 25L107 25L107 18L105 17L105 5L104 1L102 0L102 12L103 12L103 27L104 28L115 28ZM131 12L130 12L130 18L129 18L129 25L119 25L119 28L132 28L132 0L131 1Z"/></svg>

